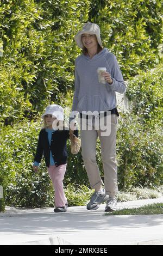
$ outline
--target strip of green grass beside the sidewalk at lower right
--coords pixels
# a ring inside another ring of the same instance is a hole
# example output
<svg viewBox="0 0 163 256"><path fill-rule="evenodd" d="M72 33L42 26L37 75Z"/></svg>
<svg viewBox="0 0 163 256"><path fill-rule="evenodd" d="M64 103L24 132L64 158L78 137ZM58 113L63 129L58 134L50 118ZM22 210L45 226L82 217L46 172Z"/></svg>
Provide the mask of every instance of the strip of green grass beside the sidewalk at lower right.
<svg viewBox="0 0 163 256"><path fill-rule="evenodd" d="M139 208L121 209L107 212L105 215L153 215L163 214L163 203L148 204Z"/></svg>

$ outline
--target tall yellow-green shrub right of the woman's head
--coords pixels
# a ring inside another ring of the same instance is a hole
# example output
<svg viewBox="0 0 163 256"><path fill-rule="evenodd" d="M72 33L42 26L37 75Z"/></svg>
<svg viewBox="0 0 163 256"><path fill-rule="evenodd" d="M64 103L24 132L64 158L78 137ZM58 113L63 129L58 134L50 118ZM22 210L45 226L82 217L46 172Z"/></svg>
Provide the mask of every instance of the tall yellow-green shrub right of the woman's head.
<svg viewBox="0 0 163 256"><path fill-rule="evenodd" d="M92 0L89 19L101 27L126 80L158 63L162 43L162 1Z"/></svg>

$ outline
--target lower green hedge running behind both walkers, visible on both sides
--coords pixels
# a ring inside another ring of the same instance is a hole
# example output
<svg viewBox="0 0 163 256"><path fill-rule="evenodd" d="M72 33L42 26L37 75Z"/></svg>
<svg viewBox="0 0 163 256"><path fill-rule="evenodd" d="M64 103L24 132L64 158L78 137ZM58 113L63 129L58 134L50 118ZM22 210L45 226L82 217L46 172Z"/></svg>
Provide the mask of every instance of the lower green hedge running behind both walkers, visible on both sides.
<svg viewBox="0 0 163 256"><path fill-rule="evenodd" d="M148 79L147 79L148 78ZM132 100L129 113L121 113L117 132L118 187L156 187L163 180L162 131L163 68L128 81L127 95ZM140 93L141 92L141 93ZM67 101L69 102L69 101ZM148 114L147 114L148 111ZM32 171L33 157L41 123L24 120L17 125L3 126L0 146L0 178L4 179L6 202L17 206L45 206L53 204L53 188L44 160L40 172ZM89 186L82 156L68 149L65 186ZM97 143L97 161L103 176L101 149ZM71 191L71 190L70 190Z"/></svg>

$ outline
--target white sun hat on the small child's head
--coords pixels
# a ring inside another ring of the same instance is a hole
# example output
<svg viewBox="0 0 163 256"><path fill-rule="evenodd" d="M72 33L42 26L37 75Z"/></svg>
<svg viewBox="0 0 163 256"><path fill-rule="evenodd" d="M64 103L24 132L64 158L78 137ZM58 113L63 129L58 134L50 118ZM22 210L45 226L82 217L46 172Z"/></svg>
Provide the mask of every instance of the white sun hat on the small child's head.
<svg viewBox="0 0 163 256"><path fill-rule="evenodd" d="M42 118L45 115L53 115L53 117L56 117L57 120L64 121L64 109L57 104L47 106L45 113L42 115Z"/></svg>

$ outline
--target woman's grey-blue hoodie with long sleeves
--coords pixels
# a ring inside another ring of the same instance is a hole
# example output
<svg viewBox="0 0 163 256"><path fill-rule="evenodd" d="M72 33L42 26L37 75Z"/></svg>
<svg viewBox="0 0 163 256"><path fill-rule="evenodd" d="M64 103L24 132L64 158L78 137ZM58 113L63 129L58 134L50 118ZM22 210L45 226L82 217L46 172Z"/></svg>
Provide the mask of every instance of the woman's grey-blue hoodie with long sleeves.
<svg viewBox="0 0 163 256"><path fill-rule="evenodd" d="M97 68L106 68L113 83L99 83ZM72 111L108 111L115 108L116 93L124 93L126 86L115 55L104 48L90 58L84 54L75 61L75 91Z"/></svg>

